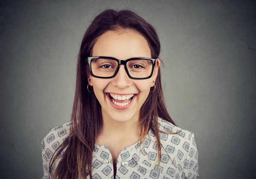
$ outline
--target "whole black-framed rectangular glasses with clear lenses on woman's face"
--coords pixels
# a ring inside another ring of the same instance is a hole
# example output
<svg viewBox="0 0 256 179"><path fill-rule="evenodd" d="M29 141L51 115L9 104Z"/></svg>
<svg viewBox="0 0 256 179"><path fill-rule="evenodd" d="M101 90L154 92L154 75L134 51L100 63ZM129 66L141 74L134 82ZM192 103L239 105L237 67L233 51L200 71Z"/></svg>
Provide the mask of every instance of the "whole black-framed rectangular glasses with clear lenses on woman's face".
<svg viewBox="0 0 256 179"><path fill-rule="evenodd" d="M119 60L113 57L87 57L90 66L90 73L95 78L113 78L120 65L125 66L125 71L129 78L148 79L151 78L156 64L155 58L129 58Z"/></svg>

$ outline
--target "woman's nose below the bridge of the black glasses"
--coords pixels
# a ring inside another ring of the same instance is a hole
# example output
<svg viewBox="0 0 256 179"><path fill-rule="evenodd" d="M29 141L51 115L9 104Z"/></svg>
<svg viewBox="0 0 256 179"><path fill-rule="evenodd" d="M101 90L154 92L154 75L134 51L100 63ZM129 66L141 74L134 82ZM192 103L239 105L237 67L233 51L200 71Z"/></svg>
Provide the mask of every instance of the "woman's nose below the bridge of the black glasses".
<svg viewBox="0 0 256 179"><path fill-rule="evenodd" d="M120 65L116 76L112 80L112 85L120 89L131 86L132 81L125 71L125 65Z"/></svg>

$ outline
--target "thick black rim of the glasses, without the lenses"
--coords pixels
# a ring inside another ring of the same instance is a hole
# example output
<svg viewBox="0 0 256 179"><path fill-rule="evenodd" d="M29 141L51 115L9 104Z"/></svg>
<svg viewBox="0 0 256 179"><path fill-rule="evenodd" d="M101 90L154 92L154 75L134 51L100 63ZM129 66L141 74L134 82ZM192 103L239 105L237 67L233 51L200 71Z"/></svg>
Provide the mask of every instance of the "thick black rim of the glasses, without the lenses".
<svg viewBox="0 0 256 179"><path fill-rule="evenodd" d="M118 62L118 65L117 65L117 68L116 68L116 71L114 72L114 74L111 76L111 77L99 77L99 76L96 76L93 74L92 72L92 67L91 67L91 60L94 59L94 58L109 58L109 59L112 59L112 60L115 60ZM131 61L131 60L135 60L135 59L139 59L139 60L151 60L153 62L153 66L152 66L152 69L151 69L151 73L148 77L145 77L145 78L134 78L132 77L129 72L128 72L128 69L127 69L127 62L128 61ZM156 65L156 61L157 61L157 58L145 58L145 57L134 57L134 58L128 58L126 60L119 60L117 58L113 58L113 57L107 57L107 56L92 56L92 57L87 57L87 63L89 64L89 67L90 67L90 74L95 77L95 78L103 78L103 79L107 79L107 78L114 78L117 74L117 72L119 71L119 68L120 68L120 65L125 65L125 72L127 73L128 77L131 78L131 79L136 79L136 80L144 80L144 79L148 79L148 78L151 78L152 75L153 75L153 72L154 72L154 66Z"/></svg>

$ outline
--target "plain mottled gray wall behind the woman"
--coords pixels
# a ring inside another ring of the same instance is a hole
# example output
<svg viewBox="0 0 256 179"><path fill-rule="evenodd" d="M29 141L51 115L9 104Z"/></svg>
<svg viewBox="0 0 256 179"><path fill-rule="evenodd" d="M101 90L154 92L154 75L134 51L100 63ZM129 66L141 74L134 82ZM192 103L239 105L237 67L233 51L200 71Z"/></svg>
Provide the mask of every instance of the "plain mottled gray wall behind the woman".
<svg viewBox="0 0 256 179"><path fill-rule="evenodd" d="M43 176L41 139L70 120L93 18L128 8L157 30L169 114L195 133L201 179L256 177L256 3L8 0L0 6L0 178Z"/></svg>

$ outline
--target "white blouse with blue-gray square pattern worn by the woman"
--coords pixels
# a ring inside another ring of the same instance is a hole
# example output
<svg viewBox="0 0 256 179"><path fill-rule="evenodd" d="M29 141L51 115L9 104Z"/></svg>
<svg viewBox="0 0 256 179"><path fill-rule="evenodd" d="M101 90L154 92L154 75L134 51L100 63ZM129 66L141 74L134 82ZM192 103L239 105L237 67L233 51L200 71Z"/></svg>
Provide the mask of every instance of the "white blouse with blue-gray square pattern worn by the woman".
<svg viewBox="0 0 256 179"><path fill-rule="evenodd" d="M158 118L160 130L178 132L181 128ZM42 142L44 177L49 179L49 161L58 146L67 138L70 122L47 131ZM157 140L149 130L143 143L125 147L116 161L115 179L196 179L198 175L198 150L194 133L182 129L178 134L160 132L161 157L158 165ZM59 157L60 159L61 157ZM53 165L56 169L59 159ZM93 179L113 179L113 161L106 145L95 145L92 164Z"/></svg>

